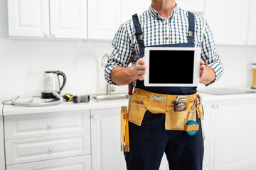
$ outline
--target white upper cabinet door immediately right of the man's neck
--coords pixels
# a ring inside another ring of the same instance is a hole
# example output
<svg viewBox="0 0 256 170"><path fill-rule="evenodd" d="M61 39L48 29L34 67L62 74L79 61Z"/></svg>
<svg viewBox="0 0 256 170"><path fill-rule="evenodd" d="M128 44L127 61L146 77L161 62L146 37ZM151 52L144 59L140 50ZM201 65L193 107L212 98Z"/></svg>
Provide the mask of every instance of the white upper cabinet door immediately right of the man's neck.
<svg viewBox="0 0 256 170"><path fill-rule="evenodd" d="M203 13L204 0L176 0L181 8L194 13Z"/></svg>

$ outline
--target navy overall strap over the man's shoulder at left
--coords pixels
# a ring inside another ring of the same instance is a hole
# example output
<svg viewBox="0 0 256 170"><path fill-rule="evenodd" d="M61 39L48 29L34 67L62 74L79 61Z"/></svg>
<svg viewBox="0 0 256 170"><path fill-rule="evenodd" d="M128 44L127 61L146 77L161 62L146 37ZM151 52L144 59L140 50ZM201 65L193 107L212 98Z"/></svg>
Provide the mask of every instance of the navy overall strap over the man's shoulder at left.
<svg viewBox="0 0 256 170"><path fill-rule="evenodd" d="M142 58L142 57L144 57L145 45L144 45L144 40L143 40L142 27L139 23L139 18L138 18L137 13L135 13L132 16L132 21L134 23L135 35L136 35L136 38L137 38L137 42L139 44L139 58Z"/></svg>

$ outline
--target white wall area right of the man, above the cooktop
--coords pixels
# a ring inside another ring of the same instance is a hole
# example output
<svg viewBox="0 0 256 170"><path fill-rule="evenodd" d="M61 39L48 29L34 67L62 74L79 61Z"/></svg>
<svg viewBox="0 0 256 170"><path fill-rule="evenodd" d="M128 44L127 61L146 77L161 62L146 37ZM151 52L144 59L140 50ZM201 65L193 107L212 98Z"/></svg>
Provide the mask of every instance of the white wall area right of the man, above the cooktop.
<svg viewBox="0 0 256 170"><path fill-rule="evenodd" d="M223 77L209 87L251 86L251 63L256 62L256 47L217 45L217 50L225 70Z"/></svg>

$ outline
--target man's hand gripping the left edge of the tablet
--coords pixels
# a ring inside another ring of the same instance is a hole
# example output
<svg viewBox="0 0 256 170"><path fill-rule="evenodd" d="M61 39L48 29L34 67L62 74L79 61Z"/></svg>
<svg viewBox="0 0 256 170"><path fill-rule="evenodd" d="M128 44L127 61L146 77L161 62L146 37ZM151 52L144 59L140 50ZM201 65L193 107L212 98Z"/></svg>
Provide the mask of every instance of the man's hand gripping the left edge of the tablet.
<svg viewBox="0 0 256 170"><path fill-rule="evenodd" d="M140 58L137 60L136 64L134 65L132 72L134 74L135 79L144 80L144 74L146 73L146 62L145 58Z"/></svg>

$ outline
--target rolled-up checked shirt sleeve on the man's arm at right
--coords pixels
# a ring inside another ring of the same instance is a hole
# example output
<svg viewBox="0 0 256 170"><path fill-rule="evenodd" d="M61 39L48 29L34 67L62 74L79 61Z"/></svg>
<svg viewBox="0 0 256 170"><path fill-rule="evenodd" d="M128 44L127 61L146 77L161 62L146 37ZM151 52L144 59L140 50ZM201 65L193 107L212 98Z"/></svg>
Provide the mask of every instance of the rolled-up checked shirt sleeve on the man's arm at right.
<svg viewBox="0 0 256 170"><path fill-rule="evenodd" d="M205 84L206 86L209 86L210 84L213 84L215 81L218 81L218 79L220 79L223 74L224 68L223 62L220 59L220 55L218 55L215 47L213 33L211 32L207 22L203 33L201 57L202 60L206 63L206 66L211 67L215 72L215 80L210 82L209 84Z"/></svg>

